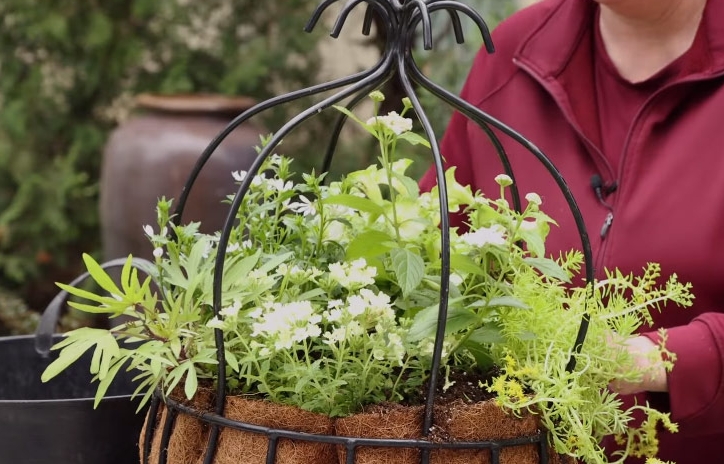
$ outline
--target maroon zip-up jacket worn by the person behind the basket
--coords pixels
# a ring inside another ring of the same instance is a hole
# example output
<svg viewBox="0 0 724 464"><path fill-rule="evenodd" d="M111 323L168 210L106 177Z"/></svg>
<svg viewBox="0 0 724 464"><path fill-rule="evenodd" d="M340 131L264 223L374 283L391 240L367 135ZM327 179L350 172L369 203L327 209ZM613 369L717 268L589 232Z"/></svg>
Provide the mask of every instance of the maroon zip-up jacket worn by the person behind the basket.
<svg viewBox="0 0 724 464"><path fill-rule="evenodd" d="M471 104L520 131L562 172L583 212L595 266L638 273L659 262L693 284L693 308L665 308L658 327L672 327L668 347L678 361L668 395L646 400L670 410L680 432L662 435L663 459L678 464L724 462L724 1L704 16L708 55L703 71L659 89L632 124L618 172L601 153L592 96L589 0L546 0L496 28L497 51L479 54L462 91ZM605 124L600 126L605 127ZM536 192L558 222L548 251L580 248L573 217L542 165L502 137L521 191ZM485 134L455 114L442 142L462 183L497 192L501 163ZM591 187L605 186L606 206ZM428 172L423 188L435 183ZM609 209L610 207L610 209ZM605 238L599 233L609 213ZM585 345L584 345L585 350Z"/></svg>

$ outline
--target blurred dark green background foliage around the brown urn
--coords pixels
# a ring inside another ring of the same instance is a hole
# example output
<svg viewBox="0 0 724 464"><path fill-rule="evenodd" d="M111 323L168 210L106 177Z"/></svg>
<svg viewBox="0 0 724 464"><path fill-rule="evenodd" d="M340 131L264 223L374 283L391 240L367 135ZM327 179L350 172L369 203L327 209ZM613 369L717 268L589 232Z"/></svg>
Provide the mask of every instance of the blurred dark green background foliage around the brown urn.
<svg viewBox="0 0 724 464"><path fill-rule="evenodd" d="M263 100L320 82L317 45L332 40L329 29L301 30L318 3L0 2L0 334L32 330L36 316L24 317L28 308L41 310L55 281L80 272L81 252L98 254L102 147L128 116L134 96L218 93ZM491 27L514 9L513 0L466 3ZM457 92L481 39L466 21L467 42L455 44L449 21L436 16L435 49L418 61L433 80ZM365 44L379 47L379 39ZM449 110L426 95L423 102L442 132ZM278 127L297 110L280 108L263 123ZM325 124L305 127L304 138L323 140L314 134ZM285 152L302 160L319 159L322 150L285 141ZM342 143L340 151L356 166L374 161L371 150L354 143ZM3 330L13 320L19 328Z"/></svg>

